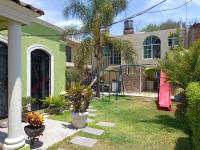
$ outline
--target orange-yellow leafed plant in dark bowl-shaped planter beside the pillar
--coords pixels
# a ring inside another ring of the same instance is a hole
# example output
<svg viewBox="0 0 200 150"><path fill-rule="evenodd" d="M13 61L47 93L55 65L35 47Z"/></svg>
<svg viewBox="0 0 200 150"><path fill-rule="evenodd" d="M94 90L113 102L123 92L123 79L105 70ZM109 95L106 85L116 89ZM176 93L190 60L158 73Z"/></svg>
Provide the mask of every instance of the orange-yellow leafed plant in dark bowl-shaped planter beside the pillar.
<svg viewBox="0 0 200 150"><path fill-rule="evenodd" d="M45 126L43 125L44 115L39 112L28 112L26 115L29 125L24 127L24 131L30 138L31 143L34 143L34 141L36 139L38 140L39 136L42 135L45 129Z"/></svg>

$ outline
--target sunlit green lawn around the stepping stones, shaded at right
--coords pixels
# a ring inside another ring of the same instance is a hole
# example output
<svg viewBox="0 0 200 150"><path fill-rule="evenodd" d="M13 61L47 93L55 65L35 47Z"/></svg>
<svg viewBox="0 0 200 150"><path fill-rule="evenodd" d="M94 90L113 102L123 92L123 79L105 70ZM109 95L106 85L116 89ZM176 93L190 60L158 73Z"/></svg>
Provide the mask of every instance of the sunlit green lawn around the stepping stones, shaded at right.
<svg viewBox="0 0 200 150"><path fill-rule="evenodd" d="M101 136L77 133L64 141L55 144L49 150L64 148L66 150L86 150L70 143L74 136L85 136L98 139L93 150L190 150L191 139L186 133L186 124L180 115L174 112L157 110L155 102L144 102L144 98L120 97L111 102L95 101L97 110L95 122L90 127L105 130ZM174 103L174 108L178 103ZM176 118L179 116L179 118ZM51 119L70 121L69 112L51 116ZM98 127L98 121L109 121L116 124L114 128Z"/></svg>

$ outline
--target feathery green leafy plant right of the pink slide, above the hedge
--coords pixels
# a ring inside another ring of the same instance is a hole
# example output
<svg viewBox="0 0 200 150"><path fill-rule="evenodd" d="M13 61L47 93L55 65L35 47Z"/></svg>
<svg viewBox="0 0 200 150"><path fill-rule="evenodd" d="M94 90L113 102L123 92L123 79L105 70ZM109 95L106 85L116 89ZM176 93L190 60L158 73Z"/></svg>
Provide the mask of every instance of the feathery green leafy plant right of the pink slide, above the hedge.
<svg viewBox="0 0 200 150"><path fill-rule="evenodd" d="M190 82L200 81L200 41L189 49L178 47L168 52L159 63L174 87L181 88L181 92L185 93Z"/></svg>

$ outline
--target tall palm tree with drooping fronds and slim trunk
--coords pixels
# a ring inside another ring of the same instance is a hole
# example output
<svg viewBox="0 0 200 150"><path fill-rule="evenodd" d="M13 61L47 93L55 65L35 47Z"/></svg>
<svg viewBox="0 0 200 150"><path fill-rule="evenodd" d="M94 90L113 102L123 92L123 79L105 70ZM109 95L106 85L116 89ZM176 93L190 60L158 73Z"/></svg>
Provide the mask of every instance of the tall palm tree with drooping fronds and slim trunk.
<svg viewBox="0 0 200 150"><path fill-rule="evenodd" d="M108 29L115 17L124 11L128 0L68 0L64 9L66 18L72 17L82 21L81 32L87 33L78 48L75 56L75 65L79 69L84 68L88 63L90 56L94 53L97 71L97 92L100 97L100 63L103 57L103 48L107 44L112 44L119 50L124 60L133 63L135 51L128 41L116 38L110 38L108 32L102 32L102 29Z"/></svg>

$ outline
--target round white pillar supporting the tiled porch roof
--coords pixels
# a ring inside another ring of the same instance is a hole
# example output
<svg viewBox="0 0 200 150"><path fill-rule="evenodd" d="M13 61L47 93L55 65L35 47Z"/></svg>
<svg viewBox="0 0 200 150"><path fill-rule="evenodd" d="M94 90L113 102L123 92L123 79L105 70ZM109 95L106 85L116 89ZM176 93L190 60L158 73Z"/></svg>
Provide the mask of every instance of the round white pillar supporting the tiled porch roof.
<svg viewBox="0 0 200 150"><path fill-rule="evenodd" d="M5 149L18 149L25 145L22 134L21 85L21 24L8 23L8 138Z"/></svg>

